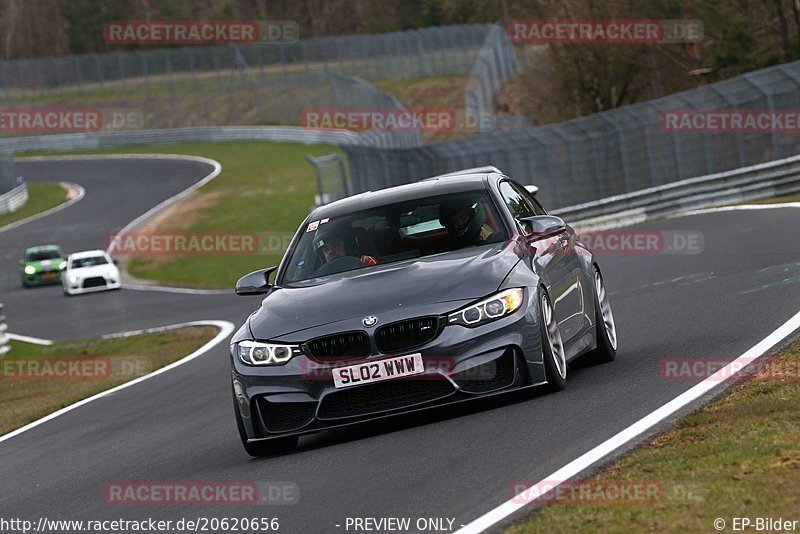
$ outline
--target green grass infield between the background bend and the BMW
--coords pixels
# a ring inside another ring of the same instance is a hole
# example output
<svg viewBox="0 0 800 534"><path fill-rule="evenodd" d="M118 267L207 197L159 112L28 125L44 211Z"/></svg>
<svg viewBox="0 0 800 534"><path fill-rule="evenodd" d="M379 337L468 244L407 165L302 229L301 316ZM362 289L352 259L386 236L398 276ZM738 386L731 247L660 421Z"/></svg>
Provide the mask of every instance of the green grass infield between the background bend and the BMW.
<svg viewBox="0 0 800 534"><path fill-rule="evenodd" d="M334 146L260 141L136 146L84 153L189 154L215 159L222 173L196 193L201 208L157 231L294 233L314 206L314 168L307 156L343 152ZM192 201L191 198L187 199ZM153 229L149 229L153 230ZM250 271L277 265L283 251L252 255L132 257L127 269L160 284L230 288Z"/></svg>

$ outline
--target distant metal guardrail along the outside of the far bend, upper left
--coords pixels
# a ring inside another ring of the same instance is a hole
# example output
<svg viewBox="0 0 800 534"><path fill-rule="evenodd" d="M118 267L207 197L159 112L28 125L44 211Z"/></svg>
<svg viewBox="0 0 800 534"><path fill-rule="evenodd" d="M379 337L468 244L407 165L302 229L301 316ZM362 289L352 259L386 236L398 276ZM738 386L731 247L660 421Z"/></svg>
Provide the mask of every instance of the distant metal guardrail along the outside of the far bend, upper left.
<svg viewBox="0 0 800 534"><path fill-rule="evenodd" d="M91 150L129 145L217 141L294 141L305 144L369 142L349 130L314 130L299 126L198 126L163 130L32 135L0 139L0 151Z"/></svg>

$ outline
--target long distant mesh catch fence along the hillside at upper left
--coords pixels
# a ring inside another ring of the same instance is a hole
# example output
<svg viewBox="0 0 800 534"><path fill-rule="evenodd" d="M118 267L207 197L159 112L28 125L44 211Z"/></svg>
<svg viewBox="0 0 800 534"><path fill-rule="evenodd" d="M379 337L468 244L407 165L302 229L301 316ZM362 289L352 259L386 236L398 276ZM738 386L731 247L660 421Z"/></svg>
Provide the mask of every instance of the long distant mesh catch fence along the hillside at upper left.
<svg viewBox="0 0 800 534"><path fill-rule="evenodd" d="M503 81L492 77L512 68L507 38L503 54L487 48L502 42L498 36L504 36L499 26L480 24L3 61L0 105L91 102L140 114L118 128L301 124L303 110L313 107L396 109L396 100L368 80L472 72L485 106L487 91ZM473 72L479 54L483 66ZM502 65L491 65L496 60ZM408 145L399 141L395 146Z"/></svg>

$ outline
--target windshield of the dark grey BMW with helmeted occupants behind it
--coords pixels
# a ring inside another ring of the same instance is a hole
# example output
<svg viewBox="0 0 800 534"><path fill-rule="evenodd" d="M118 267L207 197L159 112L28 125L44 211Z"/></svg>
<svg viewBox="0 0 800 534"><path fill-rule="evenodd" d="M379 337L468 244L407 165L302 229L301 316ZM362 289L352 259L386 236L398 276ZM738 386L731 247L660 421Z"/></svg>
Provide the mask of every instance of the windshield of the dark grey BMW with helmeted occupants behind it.
<svg viewBox="0 0 800 534"><path fill-rule="evenodd" d="M506 231L486 191L408 200L311 221L283 283L497 243Z"/></svg>

